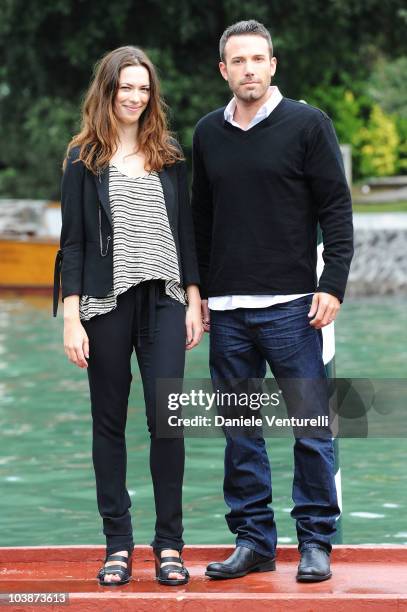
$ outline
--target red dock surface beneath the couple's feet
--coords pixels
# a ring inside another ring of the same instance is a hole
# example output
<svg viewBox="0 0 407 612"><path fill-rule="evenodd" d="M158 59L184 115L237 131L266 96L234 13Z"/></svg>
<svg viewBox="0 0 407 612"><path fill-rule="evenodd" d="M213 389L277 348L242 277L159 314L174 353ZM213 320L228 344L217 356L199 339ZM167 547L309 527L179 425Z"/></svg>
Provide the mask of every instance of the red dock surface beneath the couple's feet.
<svg viewBox="0 0 407 612"><path fill-rule="evenodd" d="M406 611L407 546L335 546L333 577L320 583L295 580L296 546L280 546L277 571L253 573L234 580L204 576L210 561L223 560L232 546L187 546L189 584L165 587L154 579L151 549L136 546L133 580L121 587L101 587L95 579L104 559L102 546L0 548L0 593L68 593L69 604L17 602L8 609L137 611L200 610L200 612ZM4 604L4 596L0 601ZM7 609L7 608L6 608Z"/></svg>

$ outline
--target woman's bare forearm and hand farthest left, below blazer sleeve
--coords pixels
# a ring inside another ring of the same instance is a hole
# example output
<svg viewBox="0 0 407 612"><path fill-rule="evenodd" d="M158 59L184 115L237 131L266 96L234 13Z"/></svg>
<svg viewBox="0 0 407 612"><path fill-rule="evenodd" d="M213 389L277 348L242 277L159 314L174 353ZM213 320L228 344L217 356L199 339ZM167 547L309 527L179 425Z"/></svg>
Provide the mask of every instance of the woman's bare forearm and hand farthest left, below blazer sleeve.
<svg viewBox="0 0 407 612"><path fill-rule="evenodd" d="M87 368L89 339L79 318L79 296L70 295L64 300L64 351L69 361L78 368Z"/></svg>

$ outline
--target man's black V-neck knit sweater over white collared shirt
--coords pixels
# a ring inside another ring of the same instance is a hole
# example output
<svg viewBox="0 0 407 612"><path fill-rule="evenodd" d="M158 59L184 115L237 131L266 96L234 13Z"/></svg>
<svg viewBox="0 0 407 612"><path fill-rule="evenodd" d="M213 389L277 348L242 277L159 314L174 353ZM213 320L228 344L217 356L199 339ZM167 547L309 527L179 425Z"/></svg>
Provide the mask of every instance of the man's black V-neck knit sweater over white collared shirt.
<svg viewBox="0 0 407 612"><path fill-rule="evenodd" d="M193 141L202 297L318 289L342 301L352 204L331 120L288 98L247 131L223 112L203 117ZM325 267L317 287L318 223Z"/></svg>

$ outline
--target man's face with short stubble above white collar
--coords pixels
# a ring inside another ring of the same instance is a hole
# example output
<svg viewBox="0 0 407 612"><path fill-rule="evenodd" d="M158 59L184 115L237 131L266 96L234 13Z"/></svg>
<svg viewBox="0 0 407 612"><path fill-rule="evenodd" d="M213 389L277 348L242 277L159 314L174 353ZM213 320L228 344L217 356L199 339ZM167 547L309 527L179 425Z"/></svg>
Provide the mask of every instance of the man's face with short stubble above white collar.
<svg viewBox="0 0 407 612"><path fill-rule="evenodd" d="M225 61L219 63L236 98L247 103L266 96L276 67L277 59L270 57L267 40L257 34L231 36L225 46Z"/></svg>

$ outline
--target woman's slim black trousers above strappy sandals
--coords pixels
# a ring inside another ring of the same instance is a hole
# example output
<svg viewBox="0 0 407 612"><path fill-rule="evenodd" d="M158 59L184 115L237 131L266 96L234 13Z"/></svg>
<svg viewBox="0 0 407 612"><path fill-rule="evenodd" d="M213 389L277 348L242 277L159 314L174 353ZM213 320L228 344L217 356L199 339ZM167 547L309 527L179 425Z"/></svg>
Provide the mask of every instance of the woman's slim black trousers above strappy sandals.
<svg viewBox="0 0 407 612"><path fill-rule="evenodd" d="M167 409L156 406L156 379L182 379L184 375L185 307L165 294L164 281L146 281L119 295L115 310L83 321L83 326L89 337L92 456L107 554L134 546L125 440L133 348L150 432L156 509L151 545L181 551L184 440L156 437L156 409Z"/></svg>

